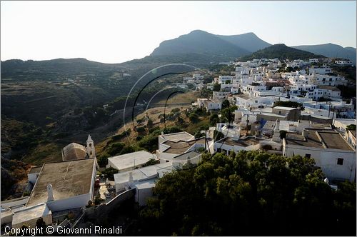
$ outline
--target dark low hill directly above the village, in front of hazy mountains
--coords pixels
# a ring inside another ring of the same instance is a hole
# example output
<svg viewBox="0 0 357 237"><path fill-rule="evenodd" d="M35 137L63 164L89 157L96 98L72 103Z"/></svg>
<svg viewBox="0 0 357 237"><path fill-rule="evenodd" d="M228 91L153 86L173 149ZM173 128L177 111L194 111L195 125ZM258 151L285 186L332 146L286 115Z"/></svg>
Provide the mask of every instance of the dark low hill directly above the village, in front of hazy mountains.
<svg viewBox="0 0 357 237"><path fill-rule="evenodd" d="M238 60L246 61L252 59L311 59L324 58L325 56L316 55L300 49L293 49L285 44L274 44L265 49L258 50L253 54L242 56Z"/></svg>

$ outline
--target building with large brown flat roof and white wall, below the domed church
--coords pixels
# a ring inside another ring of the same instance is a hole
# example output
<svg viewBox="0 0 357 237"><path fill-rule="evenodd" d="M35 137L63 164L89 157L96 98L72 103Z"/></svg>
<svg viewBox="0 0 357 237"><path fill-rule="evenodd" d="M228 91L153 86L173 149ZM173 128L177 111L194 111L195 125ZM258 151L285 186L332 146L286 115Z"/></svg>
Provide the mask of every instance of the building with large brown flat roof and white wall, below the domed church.
<svg viewBox="0 0 357 237"><path fill-rule="evenodd" d="M96 159L44 163L26 207L46 203L51 211L81 208L94 201Z"/></svg>

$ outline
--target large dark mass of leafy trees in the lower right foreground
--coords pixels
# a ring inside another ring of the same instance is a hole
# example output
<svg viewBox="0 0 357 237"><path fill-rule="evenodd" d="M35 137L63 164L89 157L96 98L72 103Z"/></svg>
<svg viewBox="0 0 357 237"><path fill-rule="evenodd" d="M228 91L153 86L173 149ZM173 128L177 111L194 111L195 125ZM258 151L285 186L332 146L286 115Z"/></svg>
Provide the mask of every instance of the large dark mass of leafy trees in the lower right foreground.
<svg viewBox="0 0 357 237"><path fill-rule="evenodd" d="M133 234L356 235L356 184L340 183L334 191L312 158L203 153L200 166L166 174L154 193Z"/></svg>

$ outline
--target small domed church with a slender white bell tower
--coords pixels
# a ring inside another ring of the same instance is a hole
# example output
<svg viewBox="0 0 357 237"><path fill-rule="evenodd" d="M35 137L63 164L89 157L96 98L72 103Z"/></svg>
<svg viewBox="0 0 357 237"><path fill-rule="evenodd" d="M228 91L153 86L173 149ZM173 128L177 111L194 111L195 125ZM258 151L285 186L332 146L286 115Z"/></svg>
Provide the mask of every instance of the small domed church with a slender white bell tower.
<svg viewBox="0 0 357 237"><path fill-rule="evenodd" d="M62 148L62 161L73 161L84 158L96 158L96 149L91 135L88 135L86 147L79 143L69 143Z"/></svg>

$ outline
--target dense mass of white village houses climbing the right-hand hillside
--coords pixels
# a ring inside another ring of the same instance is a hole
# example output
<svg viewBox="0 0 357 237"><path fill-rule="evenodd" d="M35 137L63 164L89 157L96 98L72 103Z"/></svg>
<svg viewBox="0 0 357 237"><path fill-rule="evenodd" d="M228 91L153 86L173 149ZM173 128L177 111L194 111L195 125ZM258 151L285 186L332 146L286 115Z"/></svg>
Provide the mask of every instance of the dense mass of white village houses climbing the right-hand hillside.
<svg viewBox="0 0 357 237"><path fill-rule="evenodd" d="M221 132L220 139L207 134L214 141L213 152L306 156L330 182L356 181L356 130L346 128L356 125L356 105L352 99L344 101L338 89L348 81L327 64L316 63L319 59L238 62L231 75L207 84L212 96L196 99L193 107L221 118L223 101L236 106L231 121L210 128Z"/></svg>

